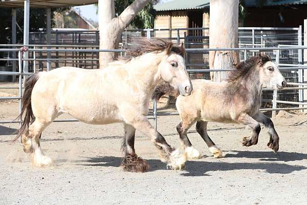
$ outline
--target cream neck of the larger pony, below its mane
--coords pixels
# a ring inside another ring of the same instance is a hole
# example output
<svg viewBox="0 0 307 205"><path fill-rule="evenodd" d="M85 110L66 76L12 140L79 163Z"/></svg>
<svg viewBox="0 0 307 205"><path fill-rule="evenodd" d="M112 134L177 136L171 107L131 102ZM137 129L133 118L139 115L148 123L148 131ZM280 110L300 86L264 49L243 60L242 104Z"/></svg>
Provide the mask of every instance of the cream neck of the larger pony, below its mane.
<svg viewBox="0 0 307 205"><path fill-rule="evenodd" d="M131 80L144 92L150 93L161 81L158 66L162 57L161 54L147 53L131 59L127 64Z"/></svg>

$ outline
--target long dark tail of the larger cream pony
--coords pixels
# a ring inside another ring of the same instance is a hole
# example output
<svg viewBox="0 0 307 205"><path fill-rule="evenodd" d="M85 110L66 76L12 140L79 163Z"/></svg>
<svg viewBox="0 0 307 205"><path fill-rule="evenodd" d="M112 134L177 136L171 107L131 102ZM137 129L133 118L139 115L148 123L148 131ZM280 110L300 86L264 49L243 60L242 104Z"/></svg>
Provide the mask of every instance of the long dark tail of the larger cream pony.
<svg viewBox="0 0 307 205"><path fill-rule="evenodd" d="M36 81L38 80L38 78L39 78L39 73L29 76L25 81L25 92L24 92L23 99L21 100L21 103L23 104L23 108L21 109L21 113L17 118L20 118L20 116L24 114L25 115L24 115L23 124L21 124L21 127L18 130L17 136L13 139L13 141L21 137L21 135L23 135L24 133L28 135L29 125L31 125L35 120L35 116L33 115L32 106L31 106L31 94L32 94L33 87Z"/></svg>

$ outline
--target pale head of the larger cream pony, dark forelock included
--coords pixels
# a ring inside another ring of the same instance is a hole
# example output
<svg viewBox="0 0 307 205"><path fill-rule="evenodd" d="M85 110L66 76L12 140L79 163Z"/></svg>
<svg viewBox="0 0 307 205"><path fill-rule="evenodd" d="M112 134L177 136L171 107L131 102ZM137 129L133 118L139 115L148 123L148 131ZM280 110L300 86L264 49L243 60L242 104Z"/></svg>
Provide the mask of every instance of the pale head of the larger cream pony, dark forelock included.
<svg viewBox="0 0 307 205"><path fill-rule="evenodd" d="M191 94L193 86L186 70L184 52L183 44L173 46L172 43L168 43L164 52L165 57L159 64L159 72L164 81L179 90L181 95L187 96Z"/></svg>

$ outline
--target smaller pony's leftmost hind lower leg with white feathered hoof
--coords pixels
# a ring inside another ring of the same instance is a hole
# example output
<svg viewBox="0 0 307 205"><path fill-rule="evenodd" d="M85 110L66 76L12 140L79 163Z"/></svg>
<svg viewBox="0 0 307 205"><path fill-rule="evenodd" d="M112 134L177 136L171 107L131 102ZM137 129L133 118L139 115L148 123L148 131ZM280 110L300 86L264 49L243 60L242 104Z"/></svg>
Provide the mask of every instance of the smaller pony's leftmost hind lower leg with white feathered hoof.
<svg viewBox="0 0 307 205"><path fill-rule="evenodd" d="M192 147L192 144L187 135L188 129L194 124L194 122L195 120L191 122L181 121L176 127L177 132L179 133L180 136L180 144L181 144L181 149L178 151L185 152L188 159L199 159L202 157L201 153Z"/></svg>

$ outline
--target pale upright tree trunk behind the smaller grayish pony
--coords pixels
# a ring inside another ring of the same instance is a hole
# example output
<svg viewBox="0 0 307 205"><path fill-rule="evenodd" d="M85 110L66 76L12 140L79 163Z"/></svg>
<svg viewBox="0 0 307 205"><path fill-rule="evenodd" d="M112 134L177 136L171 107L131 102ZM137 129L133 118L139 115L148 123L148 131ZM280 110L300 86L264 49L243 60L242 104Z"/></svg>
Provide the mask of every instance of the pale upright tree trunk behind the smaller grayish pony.
<svg viewBox="0 0 307 205"><path fill-rule="evenodd" d="M210 0L210 48L238 48L239 0ZM239 63L237 51L210 51L210 69L231 69ZM211 80L221 82L228 72L211 72Z"/></svg>

